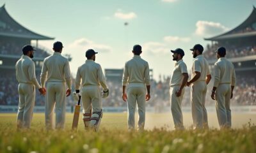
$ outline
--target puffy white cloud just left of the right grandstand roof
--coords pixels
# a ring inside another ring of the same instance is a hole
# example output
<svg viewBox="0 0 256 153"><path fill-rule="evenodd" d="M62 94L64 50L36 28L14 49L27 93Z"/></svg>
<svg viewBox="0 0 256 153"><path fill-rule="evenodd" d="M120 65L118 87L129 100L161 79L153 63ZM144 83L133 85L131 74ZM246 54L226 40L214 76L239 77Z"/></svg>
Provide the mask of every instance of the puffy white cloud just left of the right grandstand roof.
<svg viewBox="0 0 256 153"><path fill-rule="evenodd" d="M195 34L198 36L212 36L227 31L228 28L217 22L199 20L196 22Z"/></svg>

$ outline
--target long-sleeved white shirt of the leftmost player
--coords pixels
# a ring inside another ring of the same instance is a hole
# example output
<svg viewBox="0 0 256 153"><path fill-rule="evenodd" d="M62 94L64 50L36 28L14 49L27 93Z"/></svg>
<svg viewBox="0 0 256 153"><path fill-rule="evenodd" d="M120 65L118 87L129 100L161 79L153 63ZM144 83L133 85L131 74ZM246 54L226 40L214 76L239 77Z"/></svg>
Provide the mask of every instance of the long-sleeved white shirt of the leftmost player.
<svg viewBox="0 0 256 153"><path fill-rule="evenodd" d="M16 62L16 78L19 83L34 84L36 88L40 88L36 80L35 63L27 55L22 55Z"/></svg>

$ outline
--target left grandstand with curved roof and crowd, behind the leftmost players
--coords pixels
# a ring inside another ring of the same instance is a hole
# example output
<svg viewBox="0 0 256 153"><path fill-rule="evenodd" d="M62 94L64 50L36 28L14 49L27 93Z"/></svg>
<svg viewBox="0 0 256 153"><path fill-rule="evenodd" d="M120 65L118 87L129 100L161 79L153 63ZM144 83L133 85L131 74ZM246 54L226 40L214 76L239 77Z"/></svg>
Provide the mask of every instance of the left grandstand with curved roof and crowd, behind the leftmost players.
<svg viewBox="0 0 256 153"><path fill-rule="evenodd" d="M53 40L54 38L34 33L16 22L6 11L0 8L0 105L18 105L18 82L15 77L15 63L22 55L22 47L31 45L36 48L33 61L36 66L36 77L39 78L44 58L52 51L38 47L39 40ZM71 60L71 58L68 58ZM36 105L44 105L44 97L36 94Z"/></svg>

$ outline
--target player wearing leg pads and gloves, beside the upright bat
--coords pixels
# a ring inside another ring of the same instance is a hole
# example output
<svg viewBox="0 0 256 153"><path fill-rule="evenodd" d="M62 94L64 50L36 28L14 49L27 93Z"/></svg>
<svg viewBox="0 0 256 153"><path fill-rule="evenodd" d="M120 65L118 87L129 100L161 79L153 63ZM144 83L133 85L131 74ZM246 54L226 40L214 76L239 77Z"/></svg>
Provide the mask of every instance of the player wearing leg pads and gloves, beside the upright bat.
<svg viewBox="0 0 256 153"><path fill-rule="evenodd" d="M100 85L103 88L103 98L108 97L109 90L100 64L95 62L95 52L92 49L86 51L87 60L77 69L76 93L79 93L82 85L83 121L85 128L99 130L102 119L102 98ZM81 84L82 80L82 84Z"/></svg>

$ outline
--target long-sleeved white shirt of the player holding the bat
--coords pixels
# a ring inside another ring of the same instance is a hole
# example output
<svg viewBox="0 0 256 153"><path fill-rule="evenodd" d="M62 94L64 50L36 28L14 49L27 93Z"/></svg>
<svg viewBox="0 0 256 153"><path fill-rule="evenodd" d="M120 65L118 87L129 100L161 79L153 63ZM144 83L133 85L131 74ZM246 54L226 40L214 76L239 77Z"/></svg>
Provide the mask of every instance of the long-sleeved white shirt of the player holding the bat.
<svg viewBox="0 0 256 153"><path fill-rule="evenodd" d="M100 64L94 62L92 59L86 60L85 63L77 69L75 81L76 90L80 89L81 79L82 86L101 85L104 90L108 89Z"/></svg>

